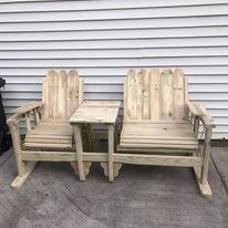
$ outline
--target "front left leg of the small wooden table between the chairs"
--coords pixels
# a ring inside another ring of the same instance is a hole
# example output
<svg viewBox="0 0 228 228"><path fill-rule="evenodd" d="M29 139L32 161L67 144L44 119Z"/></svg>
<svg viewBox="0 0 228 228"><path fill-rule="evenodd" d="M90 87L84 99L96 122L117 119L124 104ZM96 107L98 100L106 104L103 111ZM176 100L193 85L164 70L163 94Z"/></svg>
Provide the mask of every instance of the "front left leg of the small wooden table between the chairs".
<svg viewBox="0 0 228 228"><path fill-rule="evenodd" d="M77 158L80 180L84 182L85 175L84 175L83 162L82 162L82 156L83 156L82 132L81 132L81 126L77 124L74 125L74 138L75 138L75 146L76 146L76 158Z"/></svg>

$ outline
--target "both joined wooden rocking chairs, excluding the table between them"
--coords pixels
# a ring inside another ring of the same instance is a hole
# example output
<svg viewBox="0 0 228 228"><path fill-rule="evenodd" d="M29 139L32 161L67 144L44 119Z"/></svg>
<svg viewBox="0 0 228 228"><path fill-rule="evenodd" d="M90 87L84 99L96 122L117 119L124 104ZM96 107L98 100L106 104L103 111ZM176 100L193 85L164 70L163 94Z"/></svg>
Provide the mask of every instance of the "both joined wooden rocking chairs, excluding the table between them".
<svg viewBox="0 0 228 228"><path fill-rule="evenodd" d="M8 120L19 173L13 187L23 184L39 160L70 162L77 174L69 118L82 101L83 81L76 71L50 71L43 82L42 102L14 111ZM23 141L21 121L27 124ZM200 124L205 132L203 149L198 143ZM213 127L205 107L188 100L183 70L129 70L124 84L124 120L112 162L193 167L200 193L211 197L207 179ZM90 127L85 134L91 134ZM83 166L89 173L90 164L84 162Z"/></svg>

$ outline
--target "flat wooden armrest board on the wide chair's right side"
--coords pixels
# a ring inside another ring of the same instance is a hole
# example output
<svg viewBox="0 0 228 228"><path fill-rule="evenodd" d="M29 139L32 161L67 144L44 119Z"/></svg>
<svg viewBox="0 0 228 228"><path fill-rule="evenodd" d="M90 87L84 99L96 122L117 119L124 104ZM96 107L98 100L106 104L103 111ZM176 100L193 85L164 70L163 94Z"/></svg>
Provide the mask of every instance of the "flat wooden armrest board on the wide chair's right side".
<svg viewBox="0 0 228 228"><path fill-rule="evenodd" d="M203 122L203 124L206 127L216 127L213 118L210 117L209 113L207 112L207 110L205 108L203 104L197 103L197 102L188 102L187 105L188 105L190 113L199 117L199 120Z"/></svg>

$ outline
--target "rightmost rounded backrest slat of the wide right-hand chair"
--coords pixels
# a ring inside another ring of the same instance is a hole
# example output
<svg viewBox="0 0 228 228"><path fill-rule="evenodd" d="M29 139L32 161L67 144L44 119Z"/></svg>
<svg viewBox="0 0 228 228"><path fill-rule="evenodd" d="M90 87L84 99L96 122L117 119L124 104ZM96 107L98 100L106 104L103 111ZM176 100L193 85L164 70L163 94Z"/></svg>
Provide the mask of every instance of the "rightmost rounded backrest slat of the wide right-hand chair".
<svg viewBox="0 0 228 228"><path fill-rule="evenodd" d="M185 91L184 91L184 72L182 69L176 69L173 75L174 83L174 118L183 120L185 116Z"/></svg>

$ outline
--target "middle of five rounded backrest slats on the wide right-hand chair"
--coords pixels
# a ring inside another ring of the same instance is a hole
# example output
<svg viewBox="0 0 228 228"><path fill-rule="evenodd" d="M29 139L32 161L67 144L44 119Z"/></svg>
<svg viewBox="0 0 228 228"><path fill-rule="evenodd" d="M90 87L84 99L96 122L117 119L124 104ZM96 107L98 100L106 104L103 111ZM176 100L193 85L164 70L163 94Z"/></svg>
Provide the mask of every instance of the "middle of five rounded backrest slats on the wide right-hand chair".
<svg viewBox="0 0 228 228"><path fill-rule="evenodd" d="M154 69L149 72L151 81L151 121L160 120L160 72Z"/></svg>

